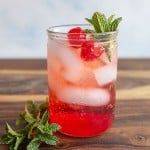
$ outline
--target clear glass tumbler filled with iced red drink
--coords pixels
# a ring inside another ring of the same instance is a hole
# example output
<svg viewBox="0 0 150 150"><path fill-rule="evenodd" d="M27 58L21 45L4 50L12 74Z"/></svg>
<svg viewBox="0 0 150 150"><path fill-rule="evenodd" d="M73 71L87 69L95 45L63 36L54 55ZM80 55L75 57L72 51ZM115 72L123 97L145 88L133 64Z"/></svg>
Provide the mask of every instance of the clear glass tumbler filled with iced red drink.
<svg viewBox="0 0 150 150"><path fill-rule="evenodd" d="M117 31L68 36L77 26L92 28L62 25L47 30L49 121L58 123L63 134L91 137L106 131L114 119Z"/></svg>

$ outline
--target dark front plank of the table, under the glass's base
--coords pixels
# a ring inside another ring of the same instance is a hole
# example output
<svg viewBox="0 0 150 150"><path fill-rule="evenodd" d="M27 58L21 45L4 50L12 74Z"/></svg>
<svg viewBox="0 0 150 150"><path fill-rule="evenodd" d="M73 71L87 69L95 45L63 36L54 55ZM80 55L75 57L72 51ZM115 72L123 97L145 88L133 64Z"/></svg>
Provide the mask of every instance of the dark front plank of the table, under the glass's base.
<svg viewBox="0 0 150 150"><path fill-rule="evenodd" d="M0 103L0 135L7 121L13 126L18 113L24 109L22 102ZM113 126L106 133L92 138L71 138L57 134L60 143L56 147L42 145L40 150L150 150L150 101L123 100L117 102ZM7 110L7 111L4 111ZM0 145L0 149L8 147Z"/></svg>

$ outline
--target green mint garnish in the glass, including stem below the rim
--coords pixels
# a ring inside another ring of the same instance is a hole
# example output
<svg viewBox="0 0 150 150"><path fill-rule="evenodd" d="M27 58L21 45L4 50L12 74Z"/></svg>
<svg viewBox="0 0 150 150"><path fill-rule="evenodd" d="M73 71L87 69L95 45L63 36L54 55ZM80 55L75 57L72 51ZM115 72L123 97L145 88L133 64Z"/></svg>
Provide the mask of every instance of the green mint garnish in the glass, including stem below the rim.
<svg viewBox="0 0 150 150"><path fill-rule="evenodd" d="M110 17L106 17L103 13L95 12L91 19L85 18L93 27L94 29L85 29L85 33L91 34L95 39L99 40L99 35L96 35L95 33L106 33L106 32L114 32L117 31L119 23L122 21L122 17L115 18L115 15L111 15ZM116 43L113 39L113 37L110 35L103 35L104 37L107 37L107 42L103 45L104 50L107 54L108 60L111 62L111 56L113 54L113 48ZM105 39L105 38L104 38Z"/></svg>

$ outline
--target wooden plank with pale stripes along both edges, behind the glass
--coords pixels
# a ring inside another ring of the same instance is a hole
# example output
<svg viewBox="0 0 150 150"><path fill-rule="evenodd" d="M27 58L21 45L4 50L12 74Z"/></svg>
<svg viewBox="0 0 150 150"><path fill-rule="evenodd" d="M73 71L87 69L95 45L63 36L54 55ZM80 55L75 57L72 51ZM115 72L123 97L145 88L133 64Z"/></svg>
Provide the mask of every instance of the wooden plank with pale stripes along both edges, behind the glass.
<svg viewBox="0 0 150 150"><path fill-rule="evenodd" d="M0 101L44 99L48 93L46 71L8 71L0 73ZM150 100L150 71L119 71L117 99Z"/></svg>

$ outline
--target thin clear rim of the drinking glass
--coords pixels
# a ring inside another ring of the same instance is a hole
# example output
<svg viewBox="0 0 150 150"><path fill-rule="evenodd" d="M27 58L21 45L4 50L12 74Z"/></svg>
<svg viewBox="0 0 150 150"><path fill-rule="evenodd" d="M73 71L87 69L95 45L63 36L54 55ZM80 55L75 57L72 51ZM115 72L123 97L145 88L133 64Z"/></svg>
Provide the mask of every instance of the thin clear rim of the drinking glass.
<svg viewBox="0 0 150 150"><path fill-rule="evenodd" d="M48 34L60 34L60 35L66 35L67 32L58 32L58 31L54 31L53 29L55 28L61 28L61 27L82 27L82 26L90 26L92 27L92 25L90 24L64 24L64 25L56 25L56 26L51 26L49 28L46 29ZM87 33L87 34L92 34L92 35L99 35L99 36L103 36L103 35L113 35L113 34L118 34L118 30L116 31L110 31L110 32L101 32L101 33ZM73 34L78 34L78 33L73 33Z"/></svg>

